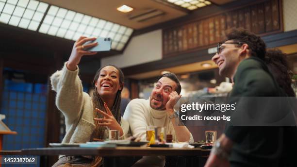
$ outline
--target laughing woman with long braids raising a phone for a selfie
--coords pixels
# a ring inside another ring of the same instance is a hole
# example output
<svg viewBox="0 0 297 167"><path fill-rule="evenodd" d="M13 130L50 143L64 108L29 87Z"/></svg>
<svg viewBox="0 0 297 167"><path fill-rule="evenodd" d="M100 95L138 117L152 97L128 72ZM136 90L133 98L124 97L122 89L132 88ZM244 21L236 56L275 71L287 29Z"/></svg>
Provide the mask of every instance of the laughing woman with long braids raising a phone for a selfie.
<svg viewBox="0 0 297 167"><path fill-rule="evenodd" d="M123 137L129 130L128 122L120 115L124 74L118 67L108 65L96 72L92 97L82 91L77 65L83 55L97 53L84 50L98 45L84 45L95 39L81 36L62 70L50 77L52 89L57 92L56 105L65 116L66 134L62 143L85 143L93 141L93 138L103 140L108 137L108 129L118 130ZM53 167L99 167L101 164L102 158L99 156L64 155Z"/></svg>

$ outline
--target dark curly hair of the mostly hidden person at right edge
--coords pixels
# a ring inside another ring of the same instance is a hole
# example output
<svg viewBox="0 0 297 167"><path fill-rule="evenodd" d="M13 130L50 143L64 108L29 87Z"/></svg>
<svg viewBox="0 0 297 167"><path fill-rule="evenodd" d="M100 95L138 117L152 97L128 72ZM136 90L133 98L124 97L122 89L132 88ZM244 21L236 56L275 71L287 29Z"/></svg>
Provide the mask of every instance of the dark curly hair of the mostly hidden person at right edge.
<svg viewBox="0 0 297 167"><path fill-rule="evenodd" d="M292 88L292 73L290 72L286 54L281 50L267 50L264 62L288 96L296 96Z"/></svg>

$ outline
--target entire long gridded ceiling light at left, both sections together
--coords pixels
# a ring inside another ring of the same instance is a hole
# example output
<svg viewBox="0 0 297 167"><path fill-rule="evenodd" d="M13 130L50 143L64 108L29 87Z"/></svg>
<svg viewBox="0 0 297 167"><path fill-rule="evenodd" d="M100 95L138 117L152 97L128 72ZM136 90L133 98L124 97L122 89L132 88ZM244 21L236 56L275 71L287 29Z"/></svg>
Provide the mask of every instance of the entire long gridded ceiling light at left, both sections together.
<svg viewBox="0 0 297 167"><path fill-rule="evenodd" d="M37 0L0 0L0 22L32 31L40 26L39 33L70 40L82 35L110 37L113 50L122 50L133 33L129 27Z"/></svg>

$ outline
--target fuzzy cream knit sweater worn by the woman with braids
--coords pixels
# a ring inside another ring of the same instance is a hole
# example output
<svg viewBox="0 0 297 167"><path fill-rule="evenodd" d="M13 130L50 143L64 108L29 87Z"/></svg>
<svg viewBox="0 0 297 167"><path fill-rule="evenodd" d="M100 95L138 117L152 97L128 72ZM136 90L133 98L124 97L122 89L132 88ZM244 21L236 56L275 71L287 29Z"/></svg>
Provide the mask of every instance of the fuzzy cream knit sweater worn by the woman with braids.
<svg viewBox="0 0 297 167"><path fill-rule="evenodd" d="M62 143L91 141L95 130L92 98L82 91L82 81L78 73L79 67L70 71L65 63L62 70L50 77L52 90L57 92L56 105L65 116L66 134ZM121 127L125 136L129 130L128 122L122 119ZM108 137L107 131L104 137Z"/></svg>

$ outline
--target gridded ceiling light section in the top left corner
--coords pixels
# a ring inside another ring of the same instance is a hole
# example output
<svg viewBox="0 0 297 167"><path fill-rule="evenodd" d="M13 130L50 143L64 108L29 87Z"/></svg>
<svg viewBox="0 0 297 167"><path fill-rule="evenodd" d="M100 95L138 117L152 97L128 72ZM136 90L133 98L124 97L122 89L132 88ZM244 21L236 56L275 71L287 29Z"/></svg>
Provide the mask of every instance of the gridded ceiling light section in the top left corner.
<svg viewBox="0 0 297 167"><path fill-rule="evenodd" d="M0 0L0 22L36 31L48 6L37 0Z"/></svg>

